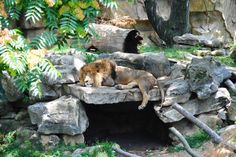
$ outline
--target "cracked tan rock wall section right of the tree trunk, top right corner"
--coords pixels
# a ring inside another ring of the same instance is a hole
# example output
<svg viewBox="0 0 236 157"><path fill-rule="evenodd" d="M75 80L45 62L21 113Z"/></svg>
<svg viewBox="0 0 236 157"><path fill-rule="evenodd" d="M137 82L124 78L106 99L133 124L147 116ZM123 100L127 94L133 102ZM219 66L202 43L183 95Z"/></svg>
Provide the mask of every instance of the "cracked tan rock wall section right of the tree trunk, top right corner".
<svg viewBox="0 0 236 157"><path fill-rule="evenodd" d="M208 34L229 42L235 36L235 0L190 0L193 34Z"/></svg>

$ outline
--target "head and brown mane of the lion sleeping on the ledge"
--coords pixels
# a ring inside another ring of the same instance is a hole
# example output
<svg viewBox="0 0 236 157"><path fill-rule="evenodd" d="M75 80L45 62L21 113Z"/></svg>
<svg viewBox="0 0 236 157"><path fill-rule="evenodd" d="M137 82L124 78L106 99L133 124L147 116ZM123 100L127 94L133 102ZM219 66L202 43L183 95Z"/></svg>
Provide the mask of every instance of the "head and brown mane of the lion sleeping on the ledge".
<svg viewBox="0 0 236 157"><path fill-rule="evenodd" d="M103 79L107 79L107 86L114 85L116 63L100 59L84 65L79 72L79 83L81 86L102 86ZM110 82L109 78L110 77ZM92 82L91 82L92 81Z"/></svg>

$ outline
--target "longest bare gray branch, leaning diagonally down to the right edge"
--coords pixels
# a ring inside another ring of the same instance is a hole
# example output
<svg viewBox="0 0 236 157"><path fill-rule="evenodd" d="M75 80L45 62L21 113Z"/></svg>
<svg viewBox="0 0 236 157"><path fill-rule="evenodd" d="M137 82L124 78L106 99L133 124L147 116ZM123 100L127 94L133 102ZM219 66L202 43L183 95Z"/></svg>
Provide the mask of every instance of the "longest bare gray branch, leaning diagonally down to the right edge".
<svg viewBox="0 0 236 157"><path fill-rule="evenodd" d="M236 153L236 146L230 144L223 140L216 132L214 132L211 128L209 128L205 123L201 122L199 119L194 117L190 112L185 110L182 106L177 103L174 103L172 107L182 114L185 118L196 124L199 128L203 129L212 139L214 143L220 144L222 143L226 148L234 151Z"/></svg>

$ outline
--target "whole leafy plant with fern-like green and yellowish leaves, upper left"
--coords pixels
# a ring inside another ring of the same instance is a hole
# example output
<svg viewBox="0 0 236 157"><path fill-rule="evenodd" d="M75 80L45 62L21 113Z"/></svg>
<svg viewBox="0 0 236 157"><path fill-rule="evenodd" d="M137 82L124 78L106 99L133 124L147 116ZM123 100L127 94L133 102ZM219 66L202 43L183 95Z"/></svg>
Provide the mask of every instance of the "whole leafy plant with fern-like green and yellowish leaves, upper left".
<svg viewBox="0 0 236 157"><path fill-rule="evenodd" d="M117 7L114 0L0 0L0 75L7 71L21 92L41 97L45 76L60 76L44 58L46 49L63 47L68 41L73 41L72 46L88 41L95 34L89 23L101 12L100 5ZM14 29L15 23L39 21L47 31L31 41Z"/></svg>

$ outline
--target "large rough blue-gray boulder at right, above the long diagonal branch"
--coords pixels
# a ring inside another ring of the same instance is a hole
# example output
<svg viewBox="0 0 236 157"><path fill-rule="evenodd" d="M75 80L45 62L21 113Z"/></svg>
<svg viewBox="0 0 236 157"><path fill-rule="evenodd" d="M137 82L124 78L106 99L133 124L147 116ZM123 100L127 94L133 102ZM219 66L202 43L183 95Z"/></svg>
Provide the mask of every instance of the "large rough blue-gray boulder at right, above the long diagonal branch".
<svg viewBox="0 0 236 157"><path fill-rule="evenodd" d="M194 58L187 67L186 78L189 80L190 90L199 99L207 99L217 92L220 83L230 78L231 73L212 57Z"/></svg>

